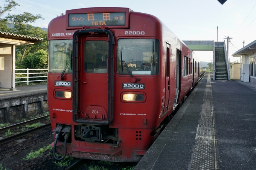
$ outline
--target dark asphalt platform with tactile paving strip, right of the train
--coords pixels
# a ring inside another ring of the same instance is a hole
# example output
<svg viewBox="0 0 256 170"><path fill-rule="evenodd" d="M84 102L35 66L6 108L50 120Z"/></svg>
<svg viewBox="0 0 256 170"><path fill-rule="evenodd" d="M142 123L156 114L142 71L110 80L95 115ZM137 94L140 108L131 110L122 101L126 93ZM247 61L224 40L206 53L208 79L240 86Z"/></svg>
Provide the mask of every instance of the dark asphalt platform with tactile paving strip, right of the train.
<svg viewBox="0 0 256 170"><path fill-rule="evenodd" d="M206 73L134 170L255 170L256 86Z"/></svg>

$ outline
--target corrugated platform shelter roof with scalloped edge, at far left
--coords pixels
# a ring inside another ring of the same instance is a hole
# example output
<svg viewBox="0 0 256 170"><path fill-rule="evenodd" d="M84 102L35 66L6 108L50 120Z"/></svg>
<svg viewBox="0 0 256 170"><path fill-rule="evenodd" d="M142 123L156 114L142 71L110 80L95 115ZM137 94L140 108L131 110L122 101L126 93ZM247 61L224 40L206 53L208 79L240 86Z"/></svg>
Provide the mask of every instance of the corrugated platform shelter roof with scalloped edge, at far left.
<svg viewBox="0 0 256 170"><path fill-rule="evenodd" d="M26 44L34 44L37 42L43 42L43 39L0 31L0 46L3 46L3 45L26 45Z"/></svg>

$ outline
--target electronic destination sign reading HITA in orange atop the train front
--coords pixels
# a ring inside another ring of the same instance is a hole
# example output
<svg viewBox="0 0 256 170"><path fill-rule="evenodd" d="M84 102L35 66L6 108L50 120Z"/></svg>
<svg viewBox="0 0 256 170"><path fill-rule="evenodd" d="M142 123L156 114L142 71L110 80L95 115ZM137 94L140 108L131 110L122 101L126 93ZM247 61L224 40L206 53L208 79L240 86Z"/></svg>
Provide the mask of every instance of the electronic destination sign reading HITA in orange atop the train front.
<svg viewBox="0 0 256 170"><path fill-rule="evenodd" d="M85 26L123 26L125 12L72 13L69 14L69 27Z"/></svg>

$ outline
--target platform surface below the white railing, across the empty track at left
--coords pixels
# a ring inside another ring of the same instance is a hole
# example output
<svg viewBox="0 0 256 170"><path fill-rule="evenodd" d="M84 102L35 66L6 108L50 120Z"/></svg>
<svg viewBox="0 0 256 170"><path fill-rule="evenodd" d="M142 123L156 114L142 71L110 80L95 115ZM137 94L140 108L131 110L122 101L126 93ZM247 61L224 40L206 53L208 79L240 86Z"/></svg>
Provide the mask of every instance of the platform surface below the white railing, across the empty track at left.
<svg viewBox="0 0 256 170"><path fill-rule="evenodd" d="M9 89L0 88L0 100L8 98L22 97L24 95L34 95L47 93L47 84L16 86L17 90L11 91Z"/></svg>

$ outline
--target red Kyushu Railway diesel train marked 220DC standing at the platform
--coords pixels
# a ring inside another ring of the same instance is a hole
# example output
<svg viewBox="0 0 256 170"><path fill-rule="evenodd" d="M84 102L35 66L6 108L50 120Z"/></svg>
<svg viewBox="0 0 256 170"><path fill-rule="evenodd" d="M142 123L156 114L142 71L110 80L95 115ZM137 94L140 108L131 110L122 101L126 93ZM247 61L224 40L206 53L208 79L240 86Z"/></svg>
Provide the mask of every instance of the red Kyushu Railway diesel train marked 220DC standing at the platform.
<svg viewBox="0 0 256 170"><path fill-rule="evenodd" d="M48 40L55 158L138 162L198 81L193 52L129 8L67 10L49 23Z"/></svg>

